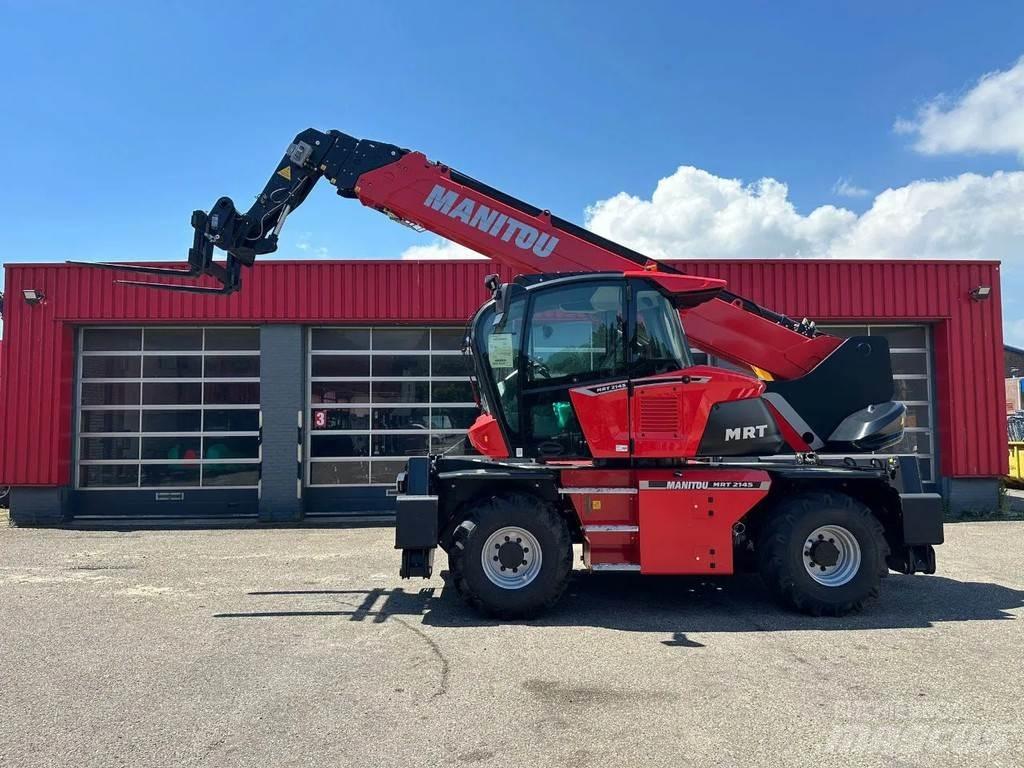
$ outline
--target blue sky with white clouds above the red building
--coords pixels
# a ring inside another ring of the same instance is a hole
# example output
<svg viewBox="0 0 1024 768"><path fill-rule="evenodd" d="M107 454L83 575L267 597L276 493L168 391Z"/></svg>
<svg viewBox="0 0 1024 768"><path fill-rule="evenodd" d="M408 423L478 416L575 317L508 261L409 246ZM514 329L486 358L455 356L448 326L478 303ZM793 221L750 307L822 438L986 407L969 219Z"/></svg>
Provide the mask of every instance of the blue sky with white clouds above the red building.
<svg viewBox="0 0 1024 768"><path fill-rule="evenodd" d="M421 150L659 254L995 254L1024 344L1024 228L1006 210L1024 137L993 138L971 112L1024 136L1016 4L0 0L0 29L5 262L180 259L194 208L245 207L315 126ZM978 95L989 73L1006 80ZM680 224L694 196L710 213ZM744 231L783 223L729 240L709 229L716 206L753 210ZM890 233L894 206L972 231ZM279 255L431 242L325 184Z"/></svg>

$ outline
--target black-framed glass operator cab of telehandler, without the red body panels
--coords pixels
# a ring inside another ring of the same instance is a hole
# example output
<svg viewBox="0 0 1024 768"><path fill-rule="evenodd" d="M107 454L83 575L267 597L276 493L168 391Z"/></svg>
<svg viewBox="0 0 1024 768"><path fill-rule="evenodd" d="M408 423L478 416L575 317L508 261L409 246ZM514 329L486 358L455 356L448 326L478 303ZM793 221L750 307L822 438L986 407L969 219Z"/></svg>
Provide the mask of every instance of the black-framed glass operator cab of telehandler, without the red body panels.
<svg viewBox="0 0 1024 768"><path fill-rule="evenodd" d="M511 457L592 458L571 391L625 397L630 380L692 365L680 299L652 280L546 275L494 288L470 343L481 406Z"/></svg>

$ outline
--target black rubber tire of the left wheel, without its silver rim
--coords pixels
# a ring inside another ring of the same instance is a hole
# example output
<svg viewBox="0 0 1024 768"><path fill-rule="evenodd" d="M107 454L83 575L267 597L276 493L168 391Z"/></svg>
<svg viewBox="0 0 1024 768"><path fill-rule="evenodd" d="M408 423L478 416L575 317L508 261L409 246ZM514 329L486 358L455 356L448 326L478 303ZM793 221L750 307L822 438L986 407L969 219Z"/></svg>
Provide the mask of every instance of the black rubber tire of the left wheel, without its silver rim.
<svg viewBox="0 0 1024 768"><path fill-rule="evenodd" d="M492 582L481 562L487 539L508 526L526 530L541 550L540 570L531 582L516 589ZM449 570L462 598L482 613L499 618L535 616L558 602L568 584L572 570L568 526L550 504L528 494L479 500L466 510L456 528Z"/></svg>

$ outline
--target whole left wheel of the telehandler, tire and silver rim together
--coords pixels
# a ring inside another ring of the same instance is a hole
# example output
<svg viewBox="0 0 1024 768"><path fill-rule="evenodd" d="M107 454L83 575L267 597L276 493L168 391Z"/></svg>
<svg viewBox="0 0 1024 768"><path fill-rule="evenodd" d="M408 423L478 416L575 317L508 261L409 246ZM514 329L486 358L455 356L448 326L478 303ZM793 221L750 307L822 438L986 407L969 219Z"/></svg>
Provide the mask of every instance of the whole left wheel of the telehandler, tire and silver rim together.
<svg viewBox="0 0 1024 768"><path fill-rule="evenodd" d="M568 526L550 504L526 494L481 500L456 528L449 567L459 594L484 613L536 615L554 605L568 583Z"/></svg>

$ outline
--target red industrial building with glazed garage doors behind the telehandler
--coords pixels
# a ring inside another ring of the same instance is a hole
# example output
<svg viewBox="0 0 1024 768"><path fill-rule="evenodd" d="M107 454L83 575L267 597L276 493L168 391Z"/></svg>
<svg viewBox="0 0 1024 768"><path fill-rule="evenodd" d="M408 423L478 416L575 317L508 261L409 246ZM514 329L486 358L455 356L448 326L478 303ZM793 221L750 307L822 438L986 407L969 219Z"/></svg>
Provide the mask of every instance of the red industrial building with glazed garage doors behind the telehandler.
<svg viewBox="0 0 1024 768"><path fill-rule="evenodd" d="M1007 445L996 262L685 265L831 333L887 336L907 406L906 436L889 453L918 456L954 510L997 503ZM495 270L265 261L224 297L8 264L0 482L11 486L12 518L387 513L406 457L469 451L476 407L462 329Z"/></svg>

